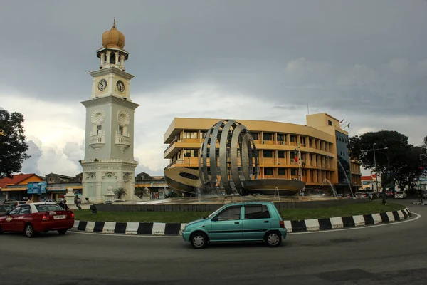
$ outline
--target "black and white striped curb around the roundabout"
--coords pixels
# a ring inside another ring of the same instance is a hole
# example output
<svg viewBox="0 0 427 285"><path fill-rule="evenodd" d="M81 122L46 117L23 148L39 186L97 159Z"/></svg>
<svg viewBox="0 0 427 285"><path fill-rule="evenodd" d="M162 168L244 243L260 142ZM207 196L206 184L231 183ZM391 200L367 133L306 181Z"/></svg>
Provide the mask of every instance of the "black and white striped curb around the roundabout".
<svg viewBox="0 0 427 285"><path fill-rule="evenodd" d="M380 214L363 214L359 216L334 217L325 219L302 219L285 221L288 232L316 232L327 229L361 227L371 224L396 222L411 217L408 208ZM186 224L169 224L157 222L85 222L75 221L73 230L78 232L95 232L102 234L149 234L157 236L179 235Z"/></svg>

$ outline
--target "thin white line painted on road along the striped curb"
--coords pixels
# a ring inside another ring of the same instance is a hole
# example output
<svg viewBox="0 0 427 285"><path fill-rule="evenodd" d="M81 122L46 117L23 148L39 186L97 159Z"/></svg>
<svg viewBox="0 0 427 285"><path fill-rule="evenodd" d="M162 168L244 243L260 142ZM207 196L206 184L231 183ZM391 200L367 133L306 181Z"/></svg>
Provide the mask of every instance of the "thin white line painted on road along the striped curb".
<svg viewBox="0 0 427 285"><path fill-rule="evenodd" d="M348 228L348 229L330 229L330 230L325 230L325 231L317 231L317 232L290 232L288 233L288 235L292 235L292 234L327 234L327 233L331 233L331 232L339 232L339 231L352 231L354 229L367 229L367 228L371 228L371 227L385 227L385 226L391 226L394 224L403 224L405 222L413 222L416 221L417 219L421 218L421 214L417 214L414 212L411 212L411 214L415 214L417 217L413 218L413 219L406 219L404 221L401 222L391 222L389 224L373 224L371 226L363 226L363 227L352 227L352 228ZM101 234L101 233L94 233L94 232L75 232L75 231L70 231L70 234L93 234L93 235L100 235L100 236L110 236L110 237L152 237L152 238L164 238L164 239L182 239L181 235L179 236L157 236L157 235L145 235L145 234Z"/></svg>

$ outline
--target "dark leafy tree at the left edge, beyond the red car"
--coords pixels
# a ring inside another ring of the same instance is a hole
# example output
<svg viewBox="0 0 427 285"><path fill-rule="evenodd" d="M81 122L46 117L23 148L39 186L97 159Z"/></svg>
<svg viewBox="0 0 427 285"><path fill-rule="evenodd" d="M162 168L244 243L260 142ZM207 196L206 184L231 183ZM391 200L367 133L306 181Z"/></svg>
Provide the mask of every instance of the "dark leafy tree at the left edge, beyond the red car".
<svg viewBox="0 0 427 285"><path fill-rule="evenodd" d="M0 110L0 177L11 177L19 172L23 160L30 156L26 154L28 145L23 132L23 115Z"/></svg>

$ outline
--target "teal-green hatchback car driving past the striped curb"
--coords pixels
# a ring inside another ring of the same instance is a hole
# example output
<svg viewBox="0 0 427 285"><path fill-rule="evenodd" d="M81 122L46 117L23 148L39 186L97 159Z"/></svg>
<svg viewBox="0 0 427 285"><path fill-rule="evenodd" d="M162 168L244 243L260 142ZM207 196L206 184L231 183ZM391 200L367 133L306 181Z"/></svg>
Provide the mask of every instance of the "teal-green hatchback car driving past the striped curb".
<svg viewBox="0 0 427 285"><path fill-rule="evenodd" d="M265 242L280 246L286 238L285 222L273 202L226 204L209 215L186 224L182 238L195 249L211 242Z"/></svg>

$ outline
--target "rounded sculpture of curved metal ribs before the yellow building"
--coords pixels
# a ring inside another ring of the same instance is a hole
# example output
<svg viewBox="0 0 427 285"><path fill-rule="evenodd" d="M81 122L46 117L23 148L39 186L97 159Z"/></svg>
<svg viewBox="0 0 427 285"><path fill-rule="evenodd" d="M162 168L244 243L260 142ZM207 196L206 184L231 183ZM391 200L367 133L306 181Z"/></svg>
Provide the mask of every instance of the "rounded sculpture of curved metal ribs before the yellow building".
<svg viewBox="0 0 427 285"><path fill-rule="evenodd" d="M244 125L221 120L207 131L199 156L202 187L218 187L231 195L243 190L243 180L256 179L258 172L258 151Z"/></svg>

